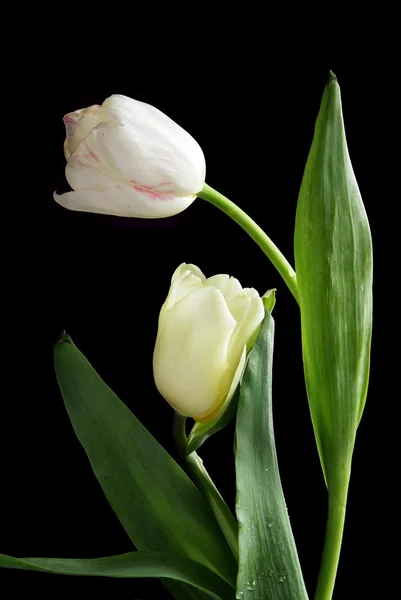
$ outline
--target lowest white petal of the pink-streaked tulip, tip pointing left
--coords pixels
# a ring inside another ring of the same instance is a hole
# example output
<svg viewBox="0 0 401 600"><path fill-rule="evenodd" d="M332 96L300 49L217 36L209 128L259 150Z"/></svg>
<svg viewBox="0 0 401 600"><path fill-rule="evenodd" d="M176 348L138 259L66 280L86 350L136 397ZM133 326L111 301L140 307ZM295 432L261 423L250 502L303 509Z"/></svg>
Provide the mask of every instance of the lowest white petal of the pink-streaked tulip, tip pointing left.
<svg viewBox="0 0 401 600"><path fill-rule="evenodd" d="M104 191L81 190L60 195L55 193L54 199L69 210L119 217L162 219L182 212L192 204L195 197L169 197L160 200L127 185L116 184Z"/></svg>

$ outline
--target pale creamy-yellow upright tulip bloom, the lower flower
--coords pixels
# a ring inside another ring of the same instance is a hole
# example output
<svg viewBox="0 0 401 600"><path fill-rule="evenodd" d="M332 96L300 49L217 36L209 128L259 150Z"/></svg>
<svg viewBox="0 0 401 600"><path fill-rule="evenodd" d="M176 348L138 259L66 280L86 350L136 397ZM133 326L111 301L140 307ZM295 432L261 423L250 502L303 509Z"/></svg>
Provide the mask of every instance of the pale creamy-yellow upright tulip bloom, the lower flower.
<svg viewBox="0 0 401 600"><path fill-rule="evenodd" d="M205 278L195 265L175 271L159 316L156 387L180 414L207 422L224 412L264 318L253 288L228 275Z"/></svg>

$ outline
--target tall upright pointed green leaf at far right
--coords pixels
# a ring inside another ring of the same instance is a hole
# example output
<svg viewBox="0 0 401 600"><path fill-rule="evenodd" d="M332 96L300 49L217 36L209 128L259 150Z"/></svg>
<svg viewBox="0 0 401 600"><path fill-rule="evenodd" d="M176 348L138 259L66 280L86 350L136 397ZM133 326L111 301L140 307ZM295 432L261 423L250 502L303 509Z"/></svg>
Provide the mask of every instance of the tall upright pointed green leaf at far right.
<svg viewBox="0 0 401 600"><path fill-rule="evenodd" d="M326 482L349 476L365 405L372 333L372 240L331 73L299 193L295 266L310 411Z"/></svg>

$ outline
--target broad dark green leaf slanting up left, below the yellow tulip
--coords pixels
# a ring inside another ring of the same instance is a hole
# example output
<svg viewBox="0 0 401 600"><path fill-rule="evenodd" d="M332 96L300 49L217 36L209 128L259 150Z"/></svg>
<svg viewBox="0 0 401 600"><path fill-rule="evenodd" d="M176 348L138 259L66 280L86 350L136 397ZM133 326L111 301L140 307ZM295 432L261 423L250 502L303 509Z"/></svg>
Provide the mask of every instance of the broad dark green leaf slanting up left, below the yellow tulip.
<svg viewBox="0 0 401 600"><path fill-rule="evenodd" d="M75 433L138 550L182 554L233 584L237 565L206 501L63 335L55 369ZM174 584L176 587L177 584Z"/></svg>

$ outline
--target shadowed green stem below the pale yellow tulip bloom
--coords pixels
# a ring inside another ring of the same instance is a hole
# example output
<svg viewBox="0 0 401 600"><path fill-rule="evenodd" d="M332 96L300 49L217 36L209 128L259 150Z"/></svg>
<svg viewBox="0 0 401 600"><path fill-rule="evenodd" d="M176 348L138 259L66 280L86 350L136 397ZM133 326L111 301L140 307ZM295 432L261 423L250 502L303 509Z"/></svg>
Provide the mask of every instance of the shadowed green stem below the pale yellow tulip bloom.
<svg viewBox="0 0 401 600"><path fill-rule="evenodd" d="M174 414L173 435L179 453L183 457L188 470L190 471L195 484L201 494L208 501L213 514L223 532L224 537L230 546L231 552L238 562L238 524L232 512L224 502L219 490L214 485L209 473L203 466L203 461L196 452L191 452L185 456L187 446L187 436L185 433L186 417Z"/></svg>

